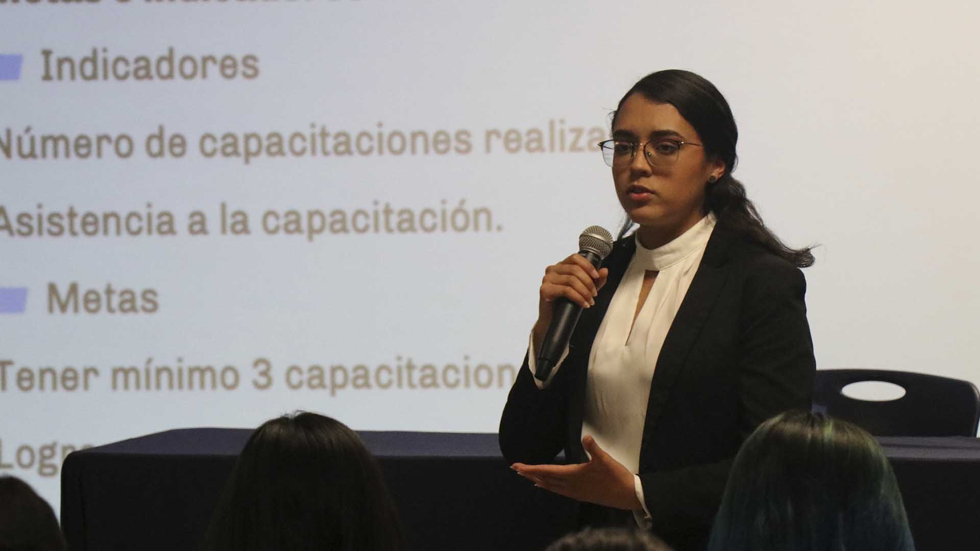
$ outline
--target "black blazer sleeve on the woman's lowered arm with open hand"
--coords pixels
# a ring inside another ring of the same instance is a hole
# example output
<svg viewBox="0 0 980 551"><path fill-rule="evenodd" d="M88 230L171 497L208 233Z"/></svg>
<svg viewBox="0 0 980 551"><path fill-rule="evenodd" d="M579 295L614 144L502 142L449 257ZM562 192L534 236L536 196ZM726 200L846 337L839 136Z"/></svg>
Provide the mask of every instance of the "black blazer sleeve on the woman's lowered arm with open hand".
<svg viewBox="0 0 980 551"><path fill-rule="evenodd" d="M786 410L810 408L816 364L806 288L799 269L768 255L744 281L739 339L734 359L725 368L738 374L737 412L733 413L740 443L766 419ZM675 471L641 473L654 529L711 524L733 461L734 455Z"/></svg>

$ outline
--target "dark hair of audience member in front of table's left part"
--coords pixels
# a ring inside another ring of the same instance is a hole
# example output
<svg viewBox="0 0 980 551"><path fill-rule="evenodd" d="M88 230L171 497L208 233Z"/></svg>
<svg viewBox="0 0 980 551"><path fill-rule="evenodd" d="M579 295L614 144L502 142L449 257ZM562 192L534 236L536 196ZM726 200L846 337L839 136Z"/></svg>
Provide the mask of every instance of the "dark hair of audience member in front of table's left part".
<svg viewBox="0 0 980 551"><path fill-rule="evenodd" d="M314 413L257 428L221 495L208 551L403 549L395 505L361 438Z"/></svg>

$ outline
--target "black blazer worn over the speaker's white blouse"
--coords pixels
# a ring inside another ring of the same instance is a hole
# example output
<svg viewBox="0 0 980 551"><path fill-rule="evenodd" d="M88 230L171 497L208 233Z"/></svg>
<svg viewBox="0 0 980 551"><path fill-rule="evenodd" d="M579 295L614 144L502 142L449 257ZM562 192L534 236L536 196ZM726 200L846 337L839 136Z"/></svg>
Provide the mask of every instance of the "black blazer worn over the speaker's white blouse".
<svg viewBox="0 0 980 551"><path fill-rule="evenodd" d="M511 462L552 463L581 445L586 370L592 342L636 249L615 242L607 284L582 312L568 356L539 390L517 374L500 423ZM667 331L650 385L640 446L640 478L653 529L677 551L704 549L743 440L766 419L809 410L813 344L803 273L720 222Z"/></svg>

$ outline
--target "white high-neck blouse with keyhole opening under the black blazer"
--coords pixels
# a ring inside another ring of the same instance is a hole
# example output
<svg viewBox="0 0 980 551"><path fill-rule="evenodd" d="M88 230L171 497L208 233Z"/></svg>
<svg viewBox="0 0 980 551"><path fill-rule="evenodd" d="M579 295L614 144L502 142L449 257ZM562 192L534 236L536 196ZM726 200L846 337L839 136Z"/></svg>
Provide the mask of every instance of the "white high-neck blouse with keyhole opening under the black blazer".
<svg viewBox="0 0 980 551"><path fill-rule="evenodd" d="M636 237L636 253L592 343L581 435L591 434L601 448L634 475L639 472L650 383L663 339L701 265L714 225L714 215L710 214L656 249L644 247ZM634 322L640 287L648 271L657 272L657 278ZM536 354L533 337L530 340L527 364L533 374ZM565 349L548 380L534 379L539 388L553 380L567 354ZM646 510L640 477L635 476L634 482L637 498ZM646 513L649 516L649 511Z"/></svg>

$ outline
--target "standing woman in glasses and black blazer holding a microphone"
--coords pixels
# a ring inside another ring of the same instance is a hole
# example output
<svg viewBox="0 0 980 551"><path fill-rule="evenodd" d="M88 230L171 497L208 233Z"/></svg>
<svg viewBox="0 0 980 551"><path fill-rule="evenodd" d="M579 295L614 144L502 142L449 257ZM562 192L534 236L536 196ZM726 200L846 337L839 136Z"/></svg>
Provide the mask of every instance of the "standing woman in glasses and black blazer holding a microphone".
<svg viewBox="0 0 980 551"><path fill-rule="evenodd" d="M777 413L809 409L799 268L813 257L783 245L732 177L738 130L708 80L647 75L612 129L601 147L629 220L602 270L572 255L545 271L501 450L521 476L602 506L583 505L583 524L632 511L678 551L703 550L742 441ZM585 310L542 383L535 350L559 298ZM574 465L528 465L563 448Z"/></svg>

